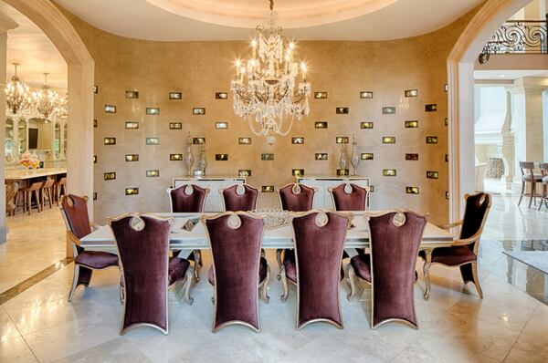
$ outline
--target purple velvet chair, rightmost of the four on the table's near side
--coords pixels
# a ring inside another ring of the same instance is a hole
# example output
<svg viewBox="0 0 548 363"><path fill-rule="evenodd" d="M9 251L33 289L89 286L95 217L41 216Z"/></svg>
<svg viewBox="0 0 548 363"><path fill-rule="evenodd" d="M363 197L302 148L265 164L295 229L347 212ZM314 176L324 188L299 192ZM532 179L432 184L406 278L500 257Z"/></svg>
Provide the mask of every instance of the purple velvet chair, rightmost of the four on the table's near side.
<svg viewBox="0 0 548 363"><path fill-rule="evenodd" d="M418 327L415 267L426 225L426 216L412 212L390 212L369 218L371 256L354 256L347 266L347 278L351 289L349 300L355 293L354 275L372 285L372 328L391 321Z"/></svg>

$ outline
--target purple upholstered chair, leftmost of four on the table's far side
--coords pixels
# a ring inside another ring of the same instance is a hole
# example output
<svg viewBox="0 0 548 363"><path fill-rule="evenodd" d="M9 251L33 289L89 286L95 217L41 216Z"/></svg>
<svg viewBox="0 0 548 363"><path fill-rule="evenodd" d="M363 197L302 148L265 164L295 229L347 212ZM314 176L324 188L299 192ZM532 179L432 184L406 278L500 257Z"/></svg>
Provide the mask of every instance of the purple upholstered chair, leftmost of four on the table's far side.
<svg viewBox="0 0 548 363"><path fill-rule="evenodd" d="M171 213L202 213L204 212L205 198L209 188L201 188L194 184L185 184L177 188L168 188L169 205ZM181 251L174 251L178 256ZM195 250L188 256L194 260L194 273L196 284L200 282L200 267L202 266L202 251Z"/></svg>

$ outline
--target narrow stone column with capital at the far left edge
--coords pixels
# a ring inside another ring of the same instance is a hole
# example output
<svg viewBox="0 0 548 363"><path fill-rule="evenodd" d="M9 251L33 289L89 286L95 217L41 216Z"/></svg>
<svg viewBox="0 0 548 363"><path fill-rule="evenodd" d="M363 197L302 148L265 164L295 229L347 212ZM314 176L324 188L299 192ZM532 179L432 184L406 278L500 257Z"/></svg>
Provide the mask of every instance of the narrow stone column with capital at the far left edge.
<svg viewBox="0 0 548 363"><path fill-rule="evenodd" d="M5 67L6 67L6 47L7 47L7 31L13 29L17 24L4 16L0 16L0 244L5 244L7 241L7 227L5 223Z"/></svg>

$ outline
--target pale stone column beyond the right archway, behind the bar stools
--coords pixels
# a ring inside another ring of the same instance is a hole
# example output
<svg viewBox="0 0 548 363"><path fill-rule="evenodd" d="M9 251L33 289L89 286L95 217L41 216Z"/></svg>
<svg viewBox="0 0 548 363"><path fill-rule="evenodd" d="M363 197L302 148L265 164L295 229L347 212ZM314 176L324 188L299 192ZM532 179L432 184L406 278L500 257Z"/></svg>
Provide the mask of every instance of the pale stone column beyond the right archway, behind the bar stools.
<svg viewBox="0 0 548 363"><path fill-rule="evenodd" d="M548 78L525 77L514 81L511 92L512 130L515 136L515 177L521 182L520 161L544 160L543 91Z"/></svg>

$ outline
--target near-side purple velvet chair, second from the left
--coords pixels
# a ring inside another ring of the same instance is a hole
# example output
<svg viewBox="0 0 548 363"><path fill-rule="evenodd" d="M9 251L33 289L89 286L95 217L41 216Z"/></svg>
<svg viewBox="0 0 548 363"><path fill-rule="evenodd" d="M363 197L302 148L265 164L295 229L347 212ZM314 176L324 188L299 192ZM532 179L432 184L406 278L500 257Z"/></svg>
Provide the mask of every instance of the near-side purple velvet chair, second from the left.
<svg viewBox="0 0 548 363"><path fill-rule="evenodd" d="M213 332L240 324L260 331L258 290L268 303L270 269L261 255L264 220L251 213L226 212L202 217L211 248L214 285Z"/></svg>

